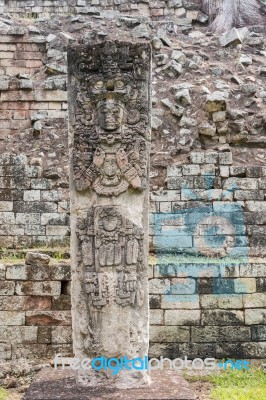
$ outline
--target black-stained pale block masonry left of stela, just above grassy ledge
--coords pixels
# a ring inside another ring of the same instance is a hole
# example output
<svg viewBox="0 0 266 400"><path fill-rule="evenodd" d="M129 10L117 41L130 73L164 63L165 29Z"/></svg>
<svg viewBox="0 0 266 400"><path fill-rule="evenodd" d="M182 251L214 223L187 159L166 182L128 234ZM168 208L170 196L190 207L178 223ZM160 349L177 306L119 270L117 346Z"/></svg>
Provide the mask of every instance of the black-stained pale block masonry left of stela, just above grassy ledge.
<svg viewBox="0 0 266 400"><path fill-rule="evenodd" d="M25 155L0 156L2 249L68 244L68 190L53 189L55 180L42 173Z"/></svg>

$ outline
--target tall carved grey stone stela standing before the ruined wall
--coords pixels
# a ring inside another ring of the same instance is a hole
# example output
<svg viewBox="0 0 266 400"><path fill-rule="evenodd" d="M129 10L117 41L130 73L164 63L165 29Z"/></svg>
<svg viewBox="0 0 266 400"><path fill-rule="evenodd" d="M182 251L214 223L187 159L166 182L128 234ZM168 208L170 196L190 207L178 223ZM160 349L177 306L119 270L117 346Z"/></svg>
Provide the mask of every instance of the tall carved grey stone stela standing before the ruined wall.
<svg viewBox="0 0 266 400"><path fill-rule="evenodd" d="M75 356L148 353L150 46L69 48ZM79 382L147 384L145 371L79 370Z"/></svg>

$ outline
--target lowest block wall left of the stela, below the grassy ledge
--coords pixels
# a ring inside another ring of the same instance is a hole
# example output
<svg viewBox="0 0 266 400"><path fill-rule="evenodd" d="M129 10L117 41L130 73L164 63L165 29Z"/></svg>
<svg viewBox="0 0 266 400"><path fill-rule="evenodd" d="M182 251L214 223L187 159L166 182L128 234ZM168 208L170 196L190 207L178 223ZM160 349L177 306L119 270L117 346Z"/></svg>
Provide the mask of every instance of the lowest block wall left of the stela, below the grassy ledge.
<svg viewBox="0 0 266 400"><path fill-rule="evenodd" d="M0 268L0 358L45 360L72 354L70 265L27 253Z"/></svg>

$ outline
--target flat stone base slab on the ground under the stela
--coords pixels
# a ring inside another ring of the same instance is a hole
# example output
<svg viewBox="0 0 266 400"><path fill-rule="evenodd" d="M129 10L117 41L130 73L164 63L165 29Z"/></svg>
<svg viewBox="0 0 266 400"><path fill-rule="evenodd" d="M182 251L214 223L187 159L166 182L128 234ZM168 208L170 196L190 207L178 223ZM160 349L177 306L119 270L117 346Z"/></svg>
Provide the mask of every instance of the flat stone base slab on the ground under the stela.
<svg viewBox="0 0 266 400"><path fill-rule="evenodd" d="M119 390L110 385L84 388L69 369L43 369L23 400L194 400L191 385L176 371L152 371L148 388Z"/></svg>

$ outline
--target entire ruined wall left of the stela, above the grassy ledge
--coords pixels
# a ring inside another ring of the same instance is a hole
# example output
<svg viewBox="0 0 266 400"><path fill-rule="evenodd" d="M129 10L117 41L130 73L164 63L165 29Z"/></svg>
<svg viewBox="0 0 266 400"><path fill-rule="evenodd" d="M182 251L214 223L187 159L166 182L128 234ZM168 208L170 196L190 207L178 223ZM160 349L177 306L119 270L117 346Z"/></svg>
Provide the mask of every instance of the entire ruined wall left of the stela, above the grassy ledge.
<svg viewBox="0 0 266 400"><path fill-rule="evenodd" d="M3 33L0 247L68 244L66 79L39 72L45 37L23 26Z"/></svg>

